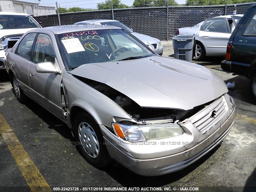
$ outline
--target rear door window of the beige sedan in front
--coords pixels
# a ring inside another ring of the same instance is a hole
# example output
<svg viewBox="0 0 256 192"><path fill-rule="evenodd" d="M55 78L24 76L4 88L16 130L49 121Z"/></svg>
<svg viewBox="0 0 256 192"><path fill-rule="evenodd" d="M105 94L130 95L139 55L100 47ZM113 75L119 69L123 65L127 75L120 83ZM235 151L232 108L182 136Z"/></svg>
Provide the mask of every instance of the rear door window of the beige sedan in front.
<svg viewBox="0 0 256 192"><path fill-rule="evenodd" d="M36 33L27 34L21 40L16 54L23 57L23 58L26 58L26 59L30 60L32 45L33 45L35 37L36 37Z"/></svg>

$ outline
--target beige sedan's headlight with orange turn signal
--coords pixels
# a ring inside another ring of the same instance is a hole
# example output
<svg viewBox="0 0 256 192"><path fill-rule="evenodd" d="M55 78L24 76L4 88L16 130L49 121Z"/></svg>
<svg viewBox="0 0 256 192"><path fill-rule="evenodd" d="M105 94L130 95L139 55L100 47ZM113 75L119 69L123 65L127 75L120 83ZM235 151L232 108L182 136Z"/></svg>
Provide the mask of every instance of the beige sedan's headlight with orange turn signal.
<svg viewBox="0 0 256 192"><path fill-rule="evenodd" d="M177 123L138 126L113 122L112 127L117 136L130 142L165 139L184 133Z"/></svg>

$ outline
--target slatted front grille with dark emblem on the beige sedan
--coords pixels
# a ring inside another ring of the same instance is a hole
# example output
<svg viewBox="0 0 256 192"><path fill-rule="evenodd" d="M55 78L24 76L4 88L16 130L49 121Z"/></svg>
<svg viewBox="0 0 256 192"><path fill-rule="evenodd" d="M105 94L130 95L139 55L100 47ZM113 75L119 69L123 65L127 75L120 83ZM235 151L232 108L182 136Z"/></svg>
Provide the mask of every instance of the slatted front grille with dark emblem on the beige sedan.
<svg viewBox="0 0 256 192"><path fill-rule="evenodd" d="M218 100L212 102L212 104L206 106L200 110L194 116L188 120L200 131L208 130L217 124L222 115L228 111L228 106L225 98L222 96Z"/></svg>

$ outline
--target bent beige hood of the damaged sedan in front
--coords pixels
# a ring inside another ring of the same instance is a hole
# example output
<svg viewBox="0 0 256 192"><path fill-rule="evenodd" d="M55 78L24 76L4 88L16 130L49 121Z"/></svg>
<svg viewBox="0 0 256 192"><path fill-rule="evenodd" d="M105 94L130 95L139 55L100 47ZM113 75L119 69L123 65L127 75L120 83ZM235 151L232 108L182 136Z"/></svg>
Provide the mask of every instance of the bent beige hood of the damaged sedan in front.
<svg viewBox="0 0 256 192"><path fill-rule="evenodd" d="M84 64L70 73L107 84L141 107L189 110L228 92L207 68L160 56Z"/></svg>

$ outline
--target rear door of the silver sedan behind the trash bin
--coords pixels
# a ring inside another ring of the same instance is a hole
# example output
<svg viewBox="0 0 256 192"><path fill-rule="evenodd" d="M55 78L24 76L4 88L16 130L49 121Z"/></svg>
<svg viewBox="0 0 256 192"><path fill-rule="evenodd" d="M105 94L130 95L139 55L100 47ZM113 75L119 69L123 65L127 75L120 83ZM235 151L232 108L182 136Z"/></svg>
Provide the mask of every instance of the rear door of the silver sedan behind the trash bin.
<svg viewBox="0 0 256 192"><path fill-rule="evenodd" d="M207 19L199 31L199 41L206 49L206 56L225 56L230 35L227 18Z"/></svg>

